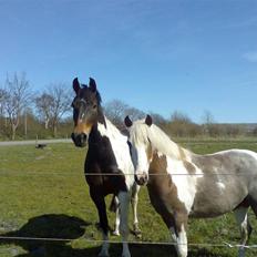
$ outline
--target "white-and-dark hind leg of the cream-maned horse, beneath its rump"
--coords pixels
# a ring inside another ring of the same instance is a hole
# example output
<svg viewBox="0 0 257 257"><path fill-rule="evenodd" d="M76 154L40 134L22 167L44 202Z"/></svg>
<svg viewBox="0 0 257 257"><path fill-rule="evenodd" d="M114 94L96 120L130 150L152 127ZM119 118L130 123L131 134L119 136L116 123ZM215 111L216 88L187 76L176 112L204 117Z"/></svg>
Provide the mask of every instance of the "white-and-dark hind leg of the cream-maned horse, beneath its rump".
<svg viewBox="0 0 257 257"><path fill-rule="evenodd" d="M238 256L244 257L245 256L245 245L247 244L250 233L251 233L251 226L247 216L248 207L239 206L234 210L237 224L240 228L240 235L241 235L241 241L240 244L243 247L238 250Z"/></svg>

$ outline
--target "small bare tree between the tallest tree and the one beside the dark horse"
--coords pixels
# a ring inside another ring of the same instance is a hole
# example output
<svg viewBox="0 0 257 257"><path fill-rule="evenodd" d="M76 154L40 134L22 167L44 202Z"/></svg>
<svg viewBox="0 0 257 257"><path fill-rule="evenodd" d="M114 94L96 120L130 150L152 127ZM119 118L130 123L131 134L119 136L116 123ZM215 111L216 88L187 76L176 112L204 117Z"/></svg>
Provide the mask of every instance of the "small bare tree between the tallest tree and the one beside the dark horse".
<svg viewBox="0 0 257 257"><path fill-rule="evenodd" d="M44 128L49 128L49 123L52 117L52 110L54 106L54 99L52 95L43 92L40 96L35 97L35 107L38 110L39 116L44 122Z"/></svg>

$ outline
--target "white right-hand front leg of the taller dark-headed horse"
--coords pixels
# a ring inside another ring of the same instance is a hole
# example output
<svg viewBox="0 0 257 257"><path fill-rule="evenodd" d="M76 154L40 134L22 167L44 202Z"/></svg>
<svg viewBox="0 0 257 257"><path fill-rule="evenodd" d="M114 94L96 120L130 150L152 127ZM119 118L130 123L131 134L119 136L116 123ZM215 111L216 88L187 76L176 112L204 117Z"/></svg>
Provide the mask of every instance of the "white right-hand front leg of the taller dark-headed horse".
<svg viewBox="0 0 257 257"><path fill-rule="evenodd" d="M128 237L127 219L128 219L130 194L127 192L120 192L117 197L120 201L120 208L121 208L120 233L122 235L122 241L123 241L122 257L131 257L128 245L127 245L127 237Z"/></svg>

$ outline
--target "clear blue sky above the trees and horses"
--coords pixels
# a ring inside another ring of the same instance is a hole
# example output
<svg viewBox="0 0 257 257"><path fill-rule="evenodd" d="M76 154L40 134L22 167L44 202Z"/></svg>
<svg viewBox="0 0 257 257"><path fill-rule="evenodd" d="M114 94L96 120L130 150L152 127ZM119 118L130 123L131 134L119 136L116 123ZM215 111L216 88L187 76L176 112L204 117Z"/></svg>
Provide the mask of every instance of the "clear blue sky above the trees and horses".
<svg viewBox="0 0 257 257"><path fill-rule="evenodd" d="M168 117L257 122L255 0L0 0L0 83L74 76Z"/></svg>

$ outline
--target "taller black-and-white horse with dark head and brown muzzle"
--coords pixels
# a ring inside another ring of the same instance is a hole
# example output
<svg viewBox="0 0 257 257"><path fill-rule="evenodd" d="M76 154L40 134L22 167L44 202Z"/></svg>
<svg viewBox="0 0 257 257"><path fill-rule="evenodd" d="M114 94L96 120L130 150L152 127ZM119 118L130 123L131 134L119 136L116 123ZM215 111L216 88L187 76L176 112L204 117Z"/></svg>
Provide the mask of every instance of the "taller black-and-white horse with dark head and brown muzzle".
<svg viewBox="0 0 257 257"><path fill-rule="evenodd" d="M73 80L75 97L72 102L74 131L71 137L78 147L88 146L84 163L85 179L90 196L94 202L100 227L103 233L103 245L99 256L109 256L109 220L104 197L113 194L116 203L115 234L123 240L123 257L130 257L127 246L127 213L132 203L134 232L140 234L137 220L137 193L140 186L134 181L134 166L131 160L127 136L104 116L101 95L95 81L90 78L89 85Z"/></svg>

